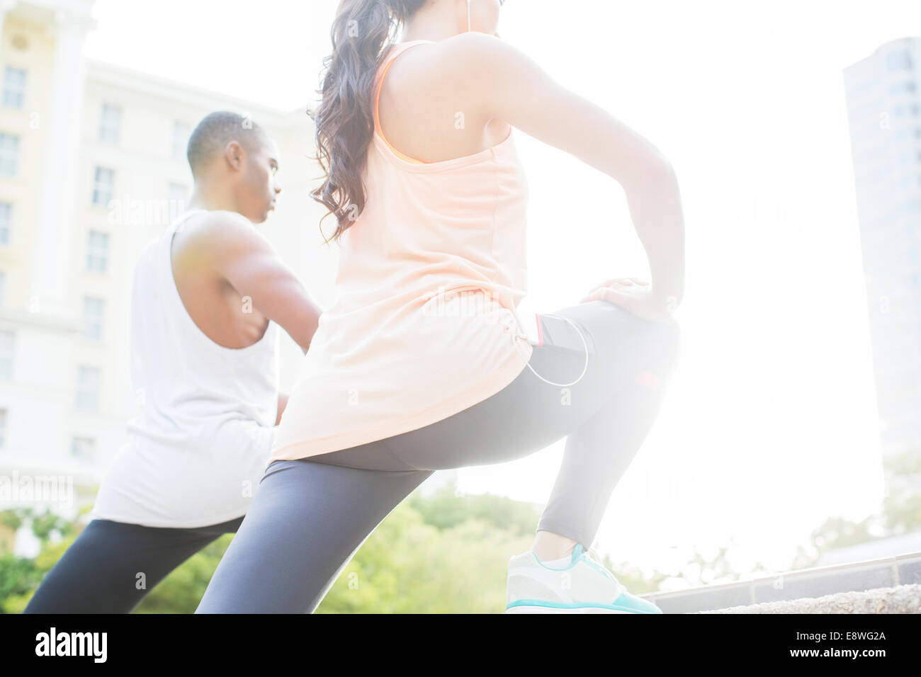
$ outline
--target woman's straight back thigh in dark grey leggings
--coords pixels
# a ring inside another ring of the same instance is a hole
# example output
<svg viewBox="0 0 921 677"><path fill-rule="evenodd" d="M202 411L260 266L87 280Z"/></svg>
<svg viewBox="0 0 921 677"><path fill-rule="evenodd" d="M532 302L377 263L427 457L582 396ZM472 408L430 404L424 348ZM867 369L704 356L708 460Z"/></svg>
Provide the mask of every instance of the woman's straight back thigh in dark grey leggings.
<svg viewBox="0 0 921 677"><path fill-rule="evenodd" d="M368 534L430 474L273 461L196 613L312 613Z"/></svg>

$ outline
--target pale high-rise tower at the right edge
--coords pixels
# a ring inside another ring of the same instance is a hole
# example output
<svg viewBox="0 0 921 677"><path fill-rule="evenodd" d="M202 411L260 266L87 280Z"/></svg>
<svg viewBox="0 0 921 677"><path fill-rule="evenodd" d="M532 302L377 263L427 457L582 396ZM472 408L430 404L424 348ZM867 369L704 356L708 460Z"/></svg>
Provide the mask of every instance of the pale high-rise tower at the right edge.
<svg viewBox="0 0 921 677"><path fill-rule="evenodd" d="M921 455L921 38L844 80L883 454Z"/></svg>

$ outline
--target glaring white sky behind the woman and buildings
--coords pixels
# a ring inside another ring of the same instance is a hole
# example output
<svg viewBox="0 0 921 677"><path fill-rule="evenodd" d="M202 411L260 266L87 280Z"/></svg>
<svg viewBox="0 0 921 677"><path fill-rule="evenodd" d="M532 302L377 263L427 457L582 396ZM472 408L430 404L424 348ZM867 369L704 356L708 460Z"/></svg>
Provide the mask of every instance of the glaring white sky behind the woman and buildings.
<svg viewBox="0 0 921 677"><path fill-rule="evenodd" d="M313 96L336 4L99 0L87 54L293 110ZM739 570L783 570L825 518L876 510L842 69L921 35L916 0L511 0L499 32L645 134L681 182L682 365L614 492L600 550L673 571L694 545L731 545ZM647 276L613 181L523 134L519 151L531 186L526 311ZM463 470L461 489L545 501L561 453Z"/></svg>

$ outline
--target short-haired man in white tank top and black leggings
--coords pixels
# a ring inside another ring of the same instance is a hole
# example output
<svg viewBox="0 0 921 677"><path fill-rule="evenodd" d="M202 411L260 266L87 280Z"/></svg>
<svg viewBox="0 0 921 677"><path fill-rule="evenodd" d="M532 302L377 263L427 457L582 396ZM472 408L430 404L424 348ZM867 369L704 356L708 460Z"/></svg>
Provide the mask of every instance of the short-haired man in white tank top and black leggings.
<svg viewBox="0 0 921 677"><path fill-rule="evenodd" d="M141 414L75 543L27 613L128 613L218 536L237 531L286 396L278 327L306 352L321 309L255 228L273 210L278 149L232 112L188 147L190 209L141 254L132 378Z"/></svg>

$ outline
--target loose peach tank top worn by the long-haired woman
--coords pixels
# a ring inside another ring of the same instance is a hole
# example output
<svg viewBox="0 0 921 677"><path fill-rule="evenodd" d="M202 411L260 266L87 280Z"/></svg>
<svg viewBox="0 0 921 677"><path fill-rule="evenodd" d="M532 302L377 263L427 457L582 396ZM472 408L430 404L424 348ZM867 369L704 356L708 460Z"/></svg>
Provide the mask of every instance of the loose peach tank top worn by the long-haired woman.
<svg viewBox="0 0 921 677"><path fill-rule="evenodd" d="M365 210L344 232L337 298L322 313L271 459L348 449L428 426L505 388L533 346L515 309L527 287L528 184L511 134L425 163L384 138L380 64Z"/></svg>

